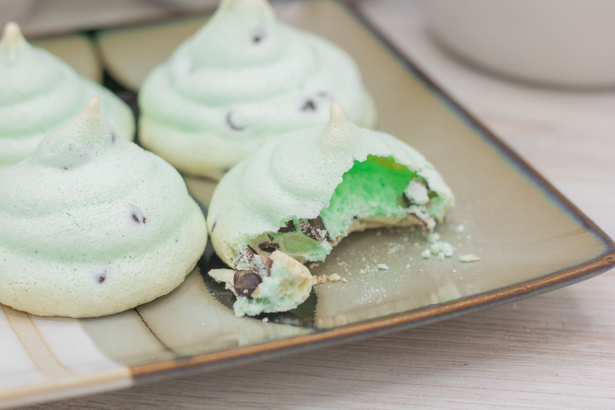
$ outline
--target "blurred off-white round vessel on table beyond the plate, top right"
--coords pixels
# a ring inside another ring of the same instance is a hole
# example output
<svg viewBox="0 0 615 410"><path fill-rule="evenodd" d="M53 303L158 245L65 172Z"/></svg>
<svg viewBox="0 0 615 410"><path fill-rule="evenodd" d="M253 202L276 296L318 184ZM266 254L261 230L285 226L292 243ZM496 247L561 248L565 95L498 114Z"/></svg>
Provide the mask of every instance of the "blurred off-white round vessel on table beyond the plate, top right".
<svg viewBox="0 0 615 410"><path fill-rule="evenodd" d="M426 0L429 30L458 57L523 81L615 86L615 0Z"/></svg>

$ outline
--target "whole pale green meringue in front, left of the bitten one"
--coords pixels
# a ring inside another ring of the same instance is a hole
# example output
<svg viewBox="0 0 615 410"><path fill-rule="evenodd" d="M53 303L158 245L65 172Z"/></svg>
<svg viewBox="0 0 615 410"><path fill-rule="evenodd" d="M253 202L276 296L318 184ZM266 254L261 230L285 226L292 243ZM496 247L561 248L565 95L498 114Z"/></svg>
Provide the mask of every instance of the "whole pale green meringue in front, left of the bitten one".
<svg viewBox="0 0 615 410"><path fill-rule="evenodd" d="M207 227L171 165L119 140L92 98L0 174L0 303L95 317L169 293Z"/></svg>

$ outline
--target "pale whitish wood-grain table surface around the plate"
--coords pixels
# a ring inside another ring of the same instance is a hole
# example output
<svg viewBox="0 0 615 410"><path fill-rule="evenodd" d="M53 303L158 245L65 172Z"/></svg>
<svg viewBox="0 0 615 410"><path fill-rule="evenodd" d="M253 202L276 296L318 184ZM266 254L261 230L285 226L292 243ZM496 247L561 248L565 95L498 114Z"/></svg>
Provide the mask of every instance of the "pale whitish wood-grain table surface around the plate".
<svg viewBox="0 0 615 410"><path fill-rule="evenodd" d="M362 6L397 47L615 237L615 90L540 89L434 46L414 1ZM30 409L615 409L615 271L434 325Z"/></svg>

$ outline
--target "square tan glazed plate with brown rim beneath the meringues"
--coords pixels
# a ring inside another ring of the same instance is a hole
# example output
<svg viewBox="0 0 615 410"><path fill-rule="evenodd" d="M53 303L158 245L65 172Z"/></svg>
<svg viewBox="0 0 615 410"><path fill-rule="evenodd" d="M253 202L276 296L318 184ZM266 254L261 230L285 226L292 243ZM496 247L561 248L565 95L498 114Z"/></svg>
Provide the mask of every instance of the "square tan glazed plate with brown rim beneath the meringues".
<svg viewBox="0 0 615 410"><path fill-rule="evenodd" d="M352 234L312 269L319 275L338 273L347 283L317 285L298 309L259 318L236 318L228 307L231 295L203 274L218 263L211 250L177 290L117 315L42 318L1 306L1 406L419 326L554 290L613 266L611 239L352 6L292 2L277 11L351 53L375 97L378 128L408 141L440 170L457 205L438 233L453 244L455 256L421 259L427 242L418 229ZM139 38L155 42L156 26L145 30ZM186 183L201 203L215 186L195 178ZM458 255L466 253L481 260L461 263ZM379 270L378 264L389 269Z"/></svg>

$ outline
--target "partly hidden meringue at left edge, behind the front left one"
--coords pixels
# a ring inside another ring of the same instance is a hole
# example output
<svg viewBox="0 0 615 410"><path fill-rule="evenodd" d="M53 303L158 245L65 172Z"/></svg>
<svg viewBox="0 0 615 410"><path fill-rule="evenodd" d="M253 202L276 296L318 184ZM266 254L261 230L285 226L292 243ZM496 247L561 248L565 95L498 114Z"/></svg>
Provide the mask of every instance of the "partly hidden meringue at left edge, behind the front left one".
<svg viewBox="0 0 615 410"><path fill-rule="evenodd" d="M92 96L117 138L132 140L135 118L124 101L7 23L0 39L0 171L30 157L46 133L79 114Z"/></svg>

